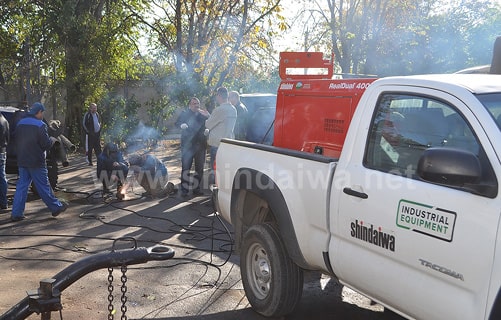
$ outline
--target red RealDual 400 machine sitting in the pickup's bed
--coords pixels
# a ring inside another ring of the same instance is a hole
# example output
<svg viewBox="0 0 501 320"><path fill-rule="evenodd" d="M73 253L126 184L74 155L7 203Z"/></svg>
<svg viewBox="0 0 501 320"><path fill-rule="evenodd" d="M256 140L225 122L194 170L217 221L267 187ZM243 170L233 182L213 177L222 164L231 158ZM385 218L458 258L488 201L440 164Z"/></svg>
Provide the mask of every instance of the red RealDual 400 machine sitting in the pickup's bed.
<svg viewBox="0 0 501 320"><path fill-rule="evenodd" d="M338 158L360 97L376 79L332 79L334 57L321 52L281 52L279 70L273 145Z"/></svg>

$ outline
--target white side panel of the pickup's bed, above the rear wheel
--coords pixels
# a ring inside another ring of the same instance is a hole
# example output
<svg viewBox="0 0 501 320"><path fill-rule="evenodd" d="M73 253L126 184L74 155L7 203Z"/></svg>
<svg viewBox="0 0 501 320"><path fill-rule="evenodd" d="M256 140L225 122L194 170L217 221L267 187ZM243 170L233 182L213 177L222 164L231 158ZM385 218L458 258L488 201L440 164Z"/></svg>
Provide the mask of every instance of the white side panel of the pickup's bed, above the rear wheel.
<svg viewBox="0 0 501 320"><path fill-rule="evenodd" d="M322 251L328 248L328 190L332 185L337 159L229 139L222 141L218 152L228 155L229 159L225 159L224 164L216 162L219 163L216 181L220 186L231 188L218 194L229 195L231 199L220 198L217 203L230 205L220 208L220 212L231 212L227 218L237 231L236 248L239 248L246 231L240 227L258 221L259 215L271 211L282 228L281 234L292 259L302 268L328 272ZM250 152L252 157L242 157ZM238 166L233 167L232 164ZM280 187L275 181L280 183ZM315 203L315 207L303 202L304 198ZM285 199L289 202L286 203ZM312 233L312 230L315 232ZM307 250L310 247L323 250Z"/></svg>

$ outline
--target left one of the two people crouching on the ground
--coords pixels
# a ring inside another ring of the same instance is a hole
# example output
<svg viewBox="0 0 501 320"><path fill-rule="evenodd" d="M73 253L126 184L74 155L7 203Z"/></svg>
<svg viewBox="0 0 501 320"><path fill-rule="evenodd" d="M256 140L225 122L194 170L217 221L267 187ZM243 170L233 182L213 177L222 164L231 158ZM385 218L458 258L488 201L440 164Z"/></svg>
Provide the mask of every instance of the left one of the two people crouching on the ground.
<svg viewBox="0 0 501 320"><path fill-rule="evenodd" d="M117 185L117 199L122 200L122 186L129 173L129 165L125 162L118 146L107 143L97 157L97 177L103 184L103 194L109 193L114 183Z"/></svg>

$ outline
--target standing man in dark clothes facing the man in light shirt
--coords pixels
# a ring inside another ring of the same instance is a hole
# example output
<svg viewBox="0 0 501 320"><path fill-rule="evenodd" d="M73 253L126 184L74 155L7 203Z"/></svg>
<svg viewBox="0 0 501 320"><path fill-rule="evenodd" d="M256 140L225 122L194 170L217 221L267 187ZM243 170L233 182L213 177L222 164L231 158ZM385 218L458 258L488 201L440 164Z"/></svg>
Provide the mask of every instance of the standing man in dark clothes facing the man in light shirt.
<svg viewBox="0 0 501 320"><path fill-rule="evenodd" d="M188 196L190 189L190 170L195 162L193 176L193 194L201 195L200 189L204 174L207 137L205 120L209 117L207 110L200 109L200 100L191 98L188 108L183 110L176 120L176 127L181 128L181 195Z"/></svg>

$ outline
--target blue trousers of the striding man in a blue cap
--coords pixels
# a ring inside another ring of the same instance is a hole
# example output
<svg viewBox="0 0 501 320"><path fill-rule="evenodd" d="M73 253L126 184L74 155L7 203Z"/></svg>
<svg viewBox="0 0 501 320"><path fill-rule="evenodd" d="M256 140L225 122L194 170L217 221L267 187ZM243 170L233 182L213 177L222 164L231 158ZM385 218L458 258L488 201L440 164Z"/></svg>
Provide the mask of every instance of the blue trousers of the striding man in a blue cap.
<svg viewBox="0 0 501 320"><path fill-rule="evenodd" d="M59 210L63 204L59 201L49 184L47 178L47 168L26 168L19 167L19 180L16 184L16 193L14 193L14 203L12 204L12 217L23 216L28 198L28 188L31 182L35 185L40 198L51 212Z"/></svg>

